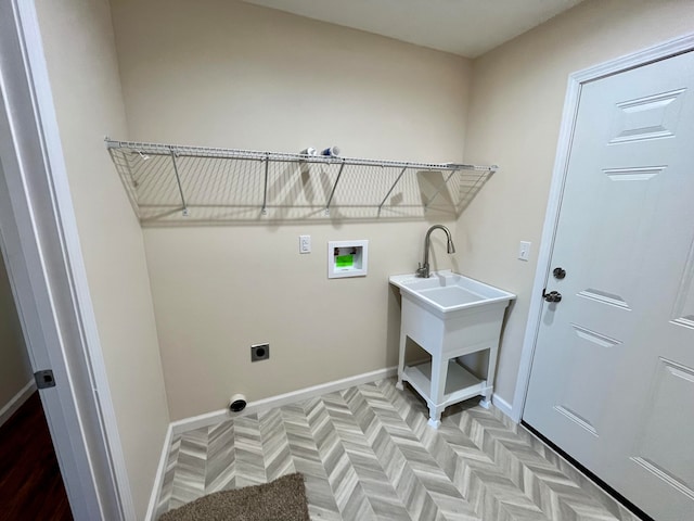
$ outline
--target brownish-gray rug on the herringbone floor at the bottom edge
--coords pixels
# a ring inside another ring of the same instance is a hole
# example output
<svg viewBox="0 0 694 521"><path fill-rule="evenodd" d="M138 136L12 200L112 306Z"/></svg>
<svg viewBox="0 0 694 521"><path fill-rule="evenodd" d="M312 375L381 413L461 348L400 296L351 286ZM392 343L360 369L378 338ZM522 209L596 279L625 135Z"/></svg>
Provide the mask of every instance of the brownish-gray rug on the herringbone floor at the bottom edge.
<svg viewBox="0 0 694 521"><path fill-rule="evenodd" d="M310 521L304 475L216 492L169 510L159 521Z"/></svg>

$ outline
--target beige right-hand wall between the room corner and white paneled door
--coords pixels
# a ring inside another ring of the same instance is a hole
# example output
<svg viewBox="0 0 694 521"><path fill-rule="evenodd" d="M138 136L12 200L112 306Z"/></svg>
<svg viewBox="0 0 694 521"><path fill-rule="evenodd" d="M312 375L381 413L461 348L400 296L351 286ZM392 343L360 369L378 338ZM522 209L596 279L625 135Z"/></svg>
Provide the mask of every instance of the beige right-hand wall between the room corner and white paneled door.
<svg viewBox="0 0 694 521"><path fill-rule="evenodd" d="M458 225L463 271L518 294L497 392L514 398L568 75L694 31L694 2L589 0L475 60L465 158L499 174ZM516 259L532 242L530 262Z"/></svg>

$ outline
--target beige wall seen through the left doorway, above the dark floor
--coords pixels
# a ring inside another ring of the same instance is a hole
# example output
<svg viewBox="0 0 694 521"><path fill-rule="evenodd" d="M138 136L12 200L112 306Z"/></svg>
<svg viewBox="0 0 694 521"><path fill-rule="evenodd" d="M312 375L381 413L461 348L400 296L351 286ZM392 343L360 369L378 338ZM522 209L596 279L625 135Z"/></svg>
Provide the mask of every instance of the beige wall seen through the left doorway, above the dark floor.
<svg viewBox="0 0 694 521"><path fill-rule="evenodd" d="M0 409L33 379L20 317L0 255Z"/></svg>

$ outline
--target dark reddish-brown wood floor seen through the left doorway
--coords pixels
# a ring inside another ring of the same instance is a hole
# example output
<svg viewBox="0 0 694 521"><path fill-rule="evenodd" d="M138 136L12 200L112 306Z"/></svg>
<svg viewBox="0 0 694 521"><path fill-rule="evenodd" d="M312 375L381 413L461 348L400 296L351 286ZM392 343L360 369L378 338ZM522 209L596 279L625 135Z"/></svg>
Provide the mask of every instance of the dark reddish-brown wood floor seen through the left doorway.
<svg viewBox="0 0 694 521"><path fill-rule="evenodd" d="M37 391L0 427L0 521L72 519Z"/></svg>

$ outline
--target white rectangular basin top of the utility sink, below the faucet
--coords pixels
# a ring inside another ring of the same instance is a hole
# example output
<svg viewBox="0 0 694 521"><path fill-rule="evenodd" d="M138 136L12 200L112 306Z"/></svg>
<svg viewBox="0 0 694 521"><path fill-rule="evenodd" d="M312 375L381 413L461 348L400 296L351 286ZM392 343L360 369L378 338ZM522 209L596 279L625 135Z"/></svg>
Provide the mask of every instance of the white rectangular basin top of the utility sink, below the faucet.
<svg viewBox="0 0 694 521"><path fill-rule="evenodd" d="M507 302L516 297L513 293L453 274L451 270L433 271L428 279L411 274L395 275L389 280L391 284L400 288L401 292L413 296L420 305L429 308L436 315Z"/></svg>

